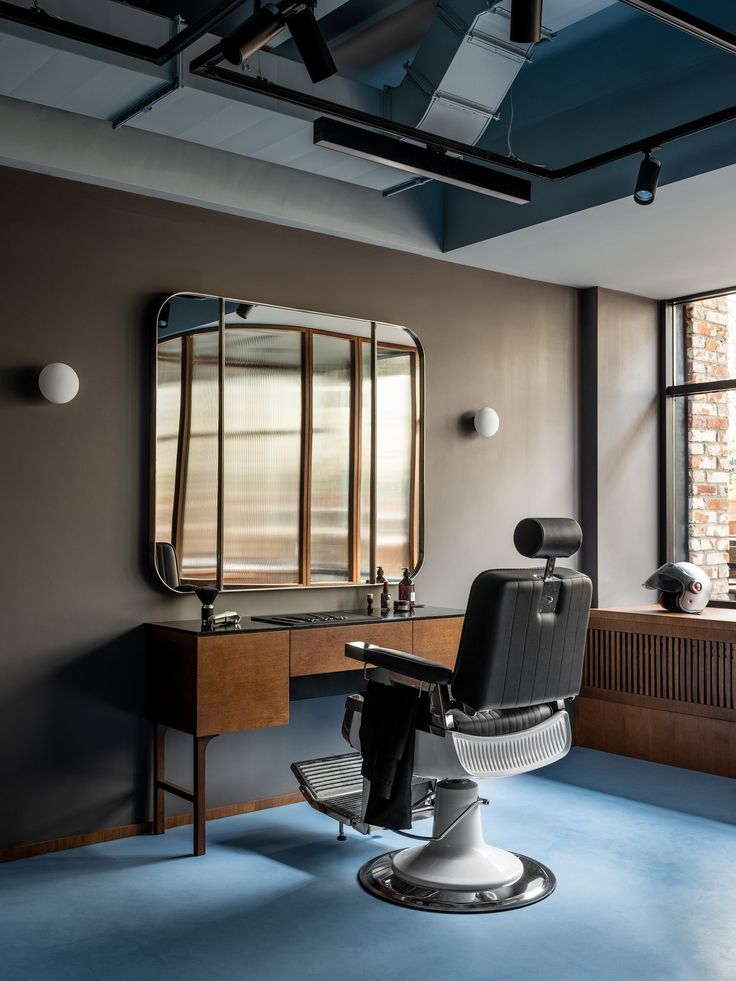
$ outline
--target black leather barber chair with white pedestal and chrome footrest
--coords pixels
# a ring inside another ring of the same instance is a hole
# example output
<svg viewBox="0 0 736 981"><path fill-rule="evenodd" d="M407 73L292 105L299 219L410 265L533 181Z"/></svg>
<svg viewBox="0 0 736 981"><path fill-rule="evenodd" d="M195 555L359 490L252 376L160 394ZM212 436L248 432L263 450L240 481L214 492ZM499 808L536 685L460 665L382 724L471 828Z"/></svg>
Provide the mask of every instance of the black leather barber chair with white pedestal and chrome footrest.
<svg viewBox="0 0 736 981"><path fill-rule="evenodd" d="M391 851L358 874L373 895L424 910L495 912L538 902L555 888L540 862L486 844L476 779L526 773L561 759L571 745L565 700L580 691L592 595L587 576L555 568L578 551L569 518L527 518L517 550L545 566L493 569L473 583L454 670L412 654L347 644L348 658L374 666L373 680L414 688L411 819L433 818L432 834L398 831L422 844ZM305 799L363 834L370 782L360 756L362 695L346 704L343 735L358 750L295 763Z"/></svg>

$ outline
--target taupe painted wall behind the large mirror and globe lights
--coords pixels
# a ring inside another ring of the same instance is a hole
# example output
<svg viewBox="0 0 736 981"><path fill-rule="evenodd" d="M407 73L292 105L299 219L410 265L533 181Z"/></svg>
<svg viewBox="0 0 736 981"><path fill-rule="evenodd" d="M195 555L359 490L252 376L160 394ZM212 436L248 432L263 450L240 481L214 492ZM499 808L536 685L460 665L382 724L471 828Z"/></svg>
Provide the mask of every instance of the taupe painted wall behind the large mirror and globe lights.
<svg viewBox="0 0 736 981"><path fill-rule="evenodd" d="M419 335L420 601L464 605L478 571L523 564L511 541L519 518L577 513L573 290L7 169L0 214L0 847L147 812L140 625L197 611L145 571L147 364L162 294L303 306ZM69 405L33 398L34 373L51 361L79 373ZM498 435L463 437L460 415L484 405L501 416ZM240 594L227 605L325 609L358 596ZM328 680L315 689L330 690ZM217 740L209 802L293 789L290 760L341 750L341 702L304 700L286 729ZM186 744L172 745L171 777L186 782Z"/></svg>

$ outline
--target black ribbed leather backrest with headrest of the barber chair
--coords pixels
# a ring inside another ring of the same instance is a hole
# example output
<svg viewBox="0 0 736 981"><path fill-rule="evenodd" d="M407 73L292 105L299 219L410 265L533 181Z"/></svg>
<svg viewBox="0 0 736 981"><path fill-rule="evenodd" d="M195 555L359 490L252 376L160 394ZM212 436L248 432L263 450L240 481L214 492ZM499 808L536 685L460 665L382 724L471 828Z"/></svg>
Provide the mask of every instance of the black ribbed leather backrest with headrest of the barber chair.
<svg viewBox="0 0 736 981"><path fill-rule="evenodd" d="M470 589L452 681L456 701L473 711L539 705L578 694L592 584L554 559L582 542L572 518L526 518L514 543L547 560L536 569L491 569Z"/></svg>

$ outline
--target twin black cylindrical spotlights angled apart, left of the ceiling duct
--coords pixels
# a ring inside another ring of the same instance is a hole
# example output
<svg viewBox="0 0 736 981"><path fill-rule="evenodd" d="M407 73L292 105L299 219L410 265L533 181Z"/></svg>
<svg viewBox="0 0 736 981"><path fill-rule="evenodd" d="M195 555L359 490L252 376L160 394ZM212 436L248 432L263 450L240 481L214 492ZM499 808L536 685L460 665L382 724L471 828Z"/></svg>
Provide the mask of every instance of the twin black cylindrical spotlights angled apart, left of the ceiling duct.
<svg viewBox="0 0 736 981"><path fill-rule="evenodd" d="M317 18L314 0L281 0L267 3L252 14L222 42L222 53L231 65L242 65L288 27L304 67L313 82L322 82L337 72Z"/></svg>

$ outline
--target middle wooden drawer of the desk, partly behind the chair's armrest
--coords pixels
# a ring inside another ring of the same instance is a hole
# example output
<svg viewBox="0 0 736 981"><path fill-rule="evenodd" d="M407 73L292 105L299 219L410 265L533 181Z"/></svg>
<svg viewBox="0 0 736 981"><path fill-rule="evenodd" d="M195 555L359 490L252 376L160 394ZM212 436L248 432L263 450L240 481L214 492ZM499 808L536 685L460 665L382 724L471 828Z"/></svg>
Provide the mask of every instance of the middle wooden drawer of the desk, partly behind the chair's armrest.
<svg viewBox="0 0 736 981"><path fill-rule="evenodd" d="M329 671L350 671L358 661L345 657L345 644L363 640L397 651L412 651L412 624L369 623L354 627L315 627L291 631L291 675L326 674Z"/></svg>

